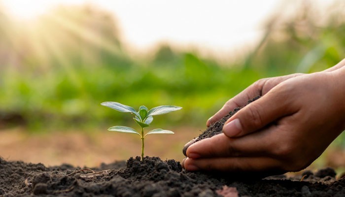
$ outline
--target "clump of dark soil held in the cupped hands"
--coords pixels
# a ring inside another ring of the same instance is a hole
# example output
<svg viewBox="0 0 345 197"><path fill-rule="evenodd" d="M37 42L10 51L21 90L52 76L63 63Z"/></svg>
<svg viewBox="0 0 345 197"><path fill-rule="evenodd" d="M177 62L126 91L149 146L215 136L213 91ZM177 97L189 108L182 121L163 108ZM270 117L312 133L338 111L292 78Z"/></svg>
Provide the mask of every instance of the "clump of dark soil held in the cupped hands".
<svg viewBox="0 0 345 197"><path fill-rule="evenodd" d="M259 98L260 98L260 96L257 96L257 97L255 97L255 98L253 98L253 99L250 99L250 100L247 101L247 104L249 104L249 103L251 103L251 102L253 102L253 101L255 101L255 100L259 99ZM246 105L247 105L247 104L246 104ZM246 105L244 105L244 106L246 106ZM242 106L242 107L237 107L237 108L235 108L233 111L230 111L229 114L227 114L226 116L224 116L222 119L218 120L218 121L215 122L215 123L212 123L212 124L207 128L207 130L203 131L198 137L196 137L196 138L192 139L191 141L189 141L189 142L183 147L183 149L182 149L183 154L186 156L187 148L188 148L190 145L194 144L195 142L200 141L200 140L205 139L205 138L208 138L208 137L212 137L212 136L214 136L214 135L216 135L216 134L221 133L222 130L223 130L223 126L224 126L225 122L226 122L230 117L232 117L234 114L236 114L236 112L238 112L240 109L242 109L244 106Z"/></svg>

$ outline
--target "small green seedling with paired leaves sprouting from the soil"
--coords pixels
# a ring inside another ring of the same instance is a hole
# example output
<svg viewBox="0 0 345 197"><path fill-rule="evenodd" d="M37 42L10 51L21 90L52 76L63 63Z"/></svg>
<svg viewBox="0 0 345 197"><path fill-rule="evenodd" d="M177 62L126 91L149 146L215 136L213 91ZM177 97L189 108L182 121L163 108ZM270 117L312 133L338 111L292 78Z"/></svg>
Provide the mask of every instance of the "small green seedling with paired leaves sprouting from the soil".
<svg viewBox="0 0 345 197"><path fill-rule="evenodd" d="M160 114L166 114L172 111L176 111L179 109L182 109L182 107L173 106L173 105L162 105L158 107L154 107L150 110L147 109L145 106L140 106L139 111L136 111L133 107L127 106L118 102L103 102L101 105L104 105L106 107L109 107L111 109L115 109L120 112L126 112L131 113L134 115L133 120L140 126L141 132L136 131L133 128L130 127L124 127L124 126L114 126L110 127L108 131L117 131L117 132L128 132L128 133L135 133L140 136L141 139L141 160L144 158L144 139L145 136L148 134L173 134L173 131L169 130L163 130L163 129L154 129L151 131L148 131L146 134L144 134L144 128L149 127L150 124L153 121L153 116L160 115Z"/></svg>

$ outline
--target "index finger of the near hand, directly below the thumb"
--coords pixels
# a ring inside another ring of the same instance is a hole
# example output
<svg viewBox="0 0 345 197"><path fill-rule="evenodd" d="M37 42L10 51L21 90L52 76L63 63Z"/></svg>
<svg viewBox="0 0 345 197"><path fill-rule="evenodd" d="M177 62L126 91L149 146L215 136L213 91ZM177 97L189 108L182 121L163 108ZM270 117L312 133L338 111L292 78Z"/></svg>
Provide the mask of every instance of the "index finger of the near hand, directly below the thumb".
<svg viewBox="0 0 345 197"><path fill-rule="evenodd" d="M266 136L265 131L239 138L229 138L220 133L190 145L186 156L192 159L266 156L270 152L272 141Z"/></svg>

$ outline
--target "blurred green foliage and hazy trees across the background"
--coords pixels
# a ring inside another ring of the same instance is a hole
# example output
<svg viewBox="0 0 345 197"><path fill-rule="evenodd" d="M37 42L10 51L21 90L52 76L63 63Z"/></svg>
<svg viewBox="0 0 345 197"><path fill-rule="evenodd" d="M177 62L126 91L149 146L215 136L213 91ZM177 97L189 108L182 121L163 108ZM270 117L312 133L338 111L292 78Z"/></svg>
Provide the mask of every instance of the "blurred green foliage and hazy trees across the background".
<svg viewBox="0 0 345 197"><path fill-rule="evenodd" d="M345 17L323 24L305 6L285 19L273 17L261 42L228 64L162 45L153 58L125 50L116 21L90 6L61 6L24 23L0 10L0 123L29 129L107 128L132 121L100 105L118 101L182 106L159 124L202 125L226 100L254 81L313 72L345 54Z"/></svg>

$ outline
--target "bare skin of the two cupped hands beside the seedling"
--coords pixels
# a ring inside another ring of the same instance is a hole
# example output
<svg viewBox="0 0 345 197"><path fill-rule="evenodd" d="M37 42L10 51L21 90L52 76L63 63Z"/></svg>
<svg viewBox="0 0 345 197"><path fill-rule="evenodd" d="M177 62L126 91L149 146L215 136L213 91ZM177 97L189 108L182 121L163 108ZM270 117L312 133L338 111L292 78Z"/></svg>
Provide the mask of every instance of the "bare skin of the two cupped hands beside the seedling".
<svg viewBox="0 0 345 197"><path fill-rule="evenodd" d="M189 170L299 171L345 130L345 59L327 70L261 79L225 105L207 126L249 103L224 125L223 133L189 146Z"/></svg>

